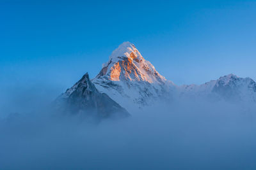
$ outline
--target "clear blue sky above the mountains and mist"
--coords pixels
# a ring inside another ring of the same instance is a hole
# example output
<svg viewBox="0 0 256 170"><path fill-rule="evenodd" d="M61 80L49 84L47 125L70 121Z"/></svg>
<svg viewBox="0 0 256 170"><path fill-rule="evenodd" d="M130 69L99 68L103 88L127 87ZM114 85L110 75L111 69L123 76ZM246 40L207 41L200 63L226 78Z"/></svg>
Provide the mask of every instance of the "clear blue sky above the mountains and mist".
<svg viewBox="0 0 256 170"><path fill-rule="evenodd" d="M256 1L0 1L1 85L67 89L124 41L178 85L256 80Z"/></svg>

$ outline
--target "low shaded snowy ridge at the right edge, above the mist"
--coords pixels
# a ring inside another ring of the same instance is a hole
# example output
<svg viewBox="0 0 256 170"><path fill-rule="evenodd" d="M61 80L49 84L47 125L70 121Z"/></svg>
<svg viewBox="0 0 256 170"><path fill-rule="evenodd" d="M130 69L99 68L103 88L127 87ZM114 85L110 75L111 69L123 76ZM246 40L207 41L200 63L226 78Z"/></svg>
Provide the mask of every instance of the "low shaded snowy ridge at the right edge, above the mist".
<svg viewBox="0 0 256 170"><path fill-rule="evenodd" d="M232 102L256 102L256 83L252 78L240 78L234 74L221 76L202 85L179 87L180 96L208 97Z"/></svg>

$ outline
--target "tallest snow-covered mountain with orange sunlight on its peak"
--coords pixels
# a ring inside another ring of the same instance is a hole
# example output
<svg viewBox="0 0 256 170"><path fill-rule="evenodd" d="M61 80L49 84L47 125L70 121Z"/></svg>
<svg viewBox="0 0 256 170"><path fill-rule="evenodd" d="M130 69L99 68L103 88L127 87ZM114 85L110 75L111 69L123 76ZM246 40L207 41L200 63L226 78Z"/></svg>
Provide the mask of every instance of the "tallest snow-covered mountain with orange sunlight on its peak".
<svg viewBox="0 0 256 170"><path fill-rule="evenodd" d="M147 106L163 97L168 98L166 94L170 94L173 86L172 81L159 74L129 42L113 51L92 82L100 92L127 108Z"/></svg>

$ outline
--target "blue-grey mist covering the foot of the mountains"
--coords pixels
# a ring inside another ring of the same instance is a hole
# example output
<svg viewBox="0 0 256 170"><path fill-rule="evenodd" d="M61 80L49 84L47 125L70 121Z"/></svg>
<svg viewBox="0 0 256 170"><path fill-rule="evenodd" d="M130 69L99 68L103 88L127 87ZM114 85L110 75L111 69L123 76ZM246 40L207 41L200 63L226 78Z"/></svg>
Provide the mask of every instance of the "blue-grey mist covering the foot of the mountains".
<svg viewBox="0 0 256 170"><path fill-rule="evenodd" d="M58 91L38 89L1 99L0 169L256 167L253 105L175 100L93 124L56 115L49 106Z"/></svg>

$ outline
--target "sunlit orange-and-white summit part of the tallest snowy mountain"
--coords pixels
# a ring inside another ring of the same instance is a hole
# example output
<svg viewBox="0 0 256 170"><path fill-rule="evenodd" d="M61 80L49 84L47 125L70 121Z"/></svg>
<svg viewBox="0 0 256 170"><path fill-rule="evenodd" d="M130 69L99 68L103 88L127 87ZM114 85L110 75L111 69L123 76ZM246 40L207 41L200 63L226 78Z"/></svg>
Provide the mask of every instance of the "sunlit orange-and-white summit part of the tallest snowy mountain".
<svg viewBox="0 0 256 170"><path fill-rule="evenodd" d="M112 52L96 78L111 81L147 81L148 83L166 81L164 76L161 76L130 42L122 43Z"/></svg>

